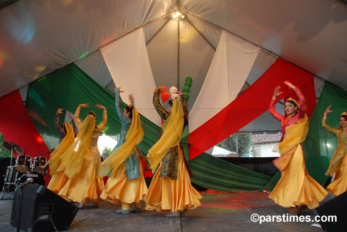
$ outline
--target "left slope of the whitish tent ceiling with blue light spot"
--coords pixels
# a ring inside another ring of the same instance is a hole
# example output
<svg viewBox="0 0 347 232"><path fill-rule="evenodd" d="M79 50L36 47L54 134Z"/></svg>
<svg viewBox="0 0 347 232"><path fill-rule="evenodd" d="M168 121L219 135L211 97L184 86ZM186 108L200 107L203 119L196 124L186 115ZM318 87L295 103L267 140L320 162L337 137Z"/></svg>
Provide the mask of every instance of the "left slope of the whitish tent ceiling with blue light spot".
<svg viewBox="0 0 347 232"><path fill-rule="evenodd" d="M0 96L158 19L176 0L26 0L0 12Z"/></svg>

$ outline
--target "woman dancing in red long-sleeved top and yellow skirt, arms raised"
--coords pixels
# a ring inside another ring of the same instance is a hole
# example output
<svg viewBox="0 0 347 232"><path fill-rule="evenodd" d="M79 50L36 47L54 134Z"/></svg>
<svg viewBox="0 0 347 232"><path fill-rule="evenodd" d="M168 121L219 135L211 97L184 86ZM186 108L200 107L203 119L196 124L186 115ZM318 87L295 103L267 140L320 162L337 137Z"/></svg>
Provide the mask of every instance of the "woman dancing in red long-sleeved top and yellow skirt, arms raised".
<svg viewBox="0 0 347 232"><path fill-rule="evenodd" d="M308 120L306 116L306 100L301 90L288 81L285 84L294 89L298 102L288 98L285 102L286 116L275 111L274 103L280 96L280 87L276 87L270 103L269 111L281 121L282 139L279 144L281 156L273 163L282 172L282 177L269 195L276 204L289 208L289 211L298 212L308 207L316 208L328 192L320 186L310 175L305 166L305 156L301 143L306 138Z"/></svg>

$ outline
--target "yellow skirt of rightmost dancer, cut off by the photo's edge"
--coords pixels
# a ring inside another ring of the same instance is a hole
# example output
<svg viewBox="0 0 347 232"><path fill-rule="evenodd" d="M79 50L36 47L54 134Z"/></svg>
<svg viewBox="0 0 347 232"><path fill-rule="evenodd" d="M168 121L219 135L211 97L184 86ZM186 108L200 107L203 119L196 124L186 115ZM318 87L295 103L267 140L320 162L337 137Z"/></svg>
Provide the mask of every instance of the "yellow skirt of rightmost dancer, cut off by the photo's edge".
<svg viewBox="0 0 347 232"><path fill-rule="evenodd" d="M341 160L341 165L335 174L335 179L328 185L327 189L335 196L347 191L347 155Z"/></svg>

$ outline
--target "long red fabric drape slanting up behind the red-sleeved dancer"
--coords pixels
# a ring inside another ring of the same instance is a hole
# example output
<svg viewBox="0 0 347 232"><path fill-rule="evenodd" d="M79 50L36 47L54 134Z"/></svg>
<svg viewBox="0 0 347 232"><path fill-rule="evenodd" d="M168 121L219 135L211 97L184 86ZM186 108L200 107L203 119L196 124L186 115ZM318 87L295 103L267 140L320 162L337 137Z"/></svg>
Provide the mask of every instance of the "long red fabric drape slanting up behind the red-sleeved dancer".
<svg viewBox="0 0 347 232"><path fill-rule="evenodd" d="M311 73L278 58L251 87L209 121L189 134L190 159L212 148L268 110L273 89L278 85L283 91L282 98L287 99L293 90L283 83L285 80L303 91L307 100L307 116L310 117L316 106L313 78L314 75ZM295 93L292 96L296 98Z"/></svg>

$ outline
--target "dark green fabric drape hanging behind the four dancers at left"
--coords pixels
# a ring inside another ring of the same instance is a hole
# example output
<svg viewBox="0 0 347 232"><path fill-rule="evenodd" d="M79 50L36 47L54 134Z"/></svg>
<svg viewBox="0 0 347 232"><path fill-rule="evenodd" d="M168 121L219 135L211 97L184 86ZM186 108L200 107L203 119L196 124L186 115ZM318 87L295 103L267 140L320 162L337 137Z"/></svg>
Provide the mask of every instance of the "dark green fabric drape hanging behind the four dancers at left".
<svg viewBox="0 0 347 232"><path fill-rule="evenodd" d="M76 107L81 103L90 103L90 107L81 110L80 118L85 118L92 110L96 113L96 124L102 120L102 110L97 109L95 105L105 106L108 110L108 123L103 132L109 136L119 134L121 122L115 110L114 94L101 87L75 64L65 66L64 69L29 84L26 109L49 148L56 148L59 142L58 139L53 139L59 138L54 126L58 107L74 114ZM124 102L122 105L126 106ZM60 116L60 124L63 121L64 116ZM141 116L141 121L145 136L139 148L147 152L160 138L160 128L144 116Z"/></svg>

